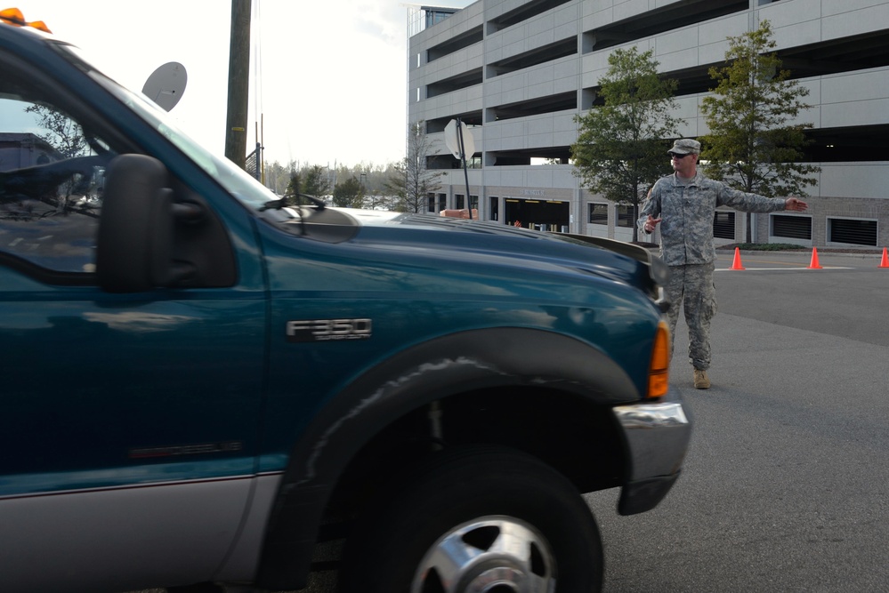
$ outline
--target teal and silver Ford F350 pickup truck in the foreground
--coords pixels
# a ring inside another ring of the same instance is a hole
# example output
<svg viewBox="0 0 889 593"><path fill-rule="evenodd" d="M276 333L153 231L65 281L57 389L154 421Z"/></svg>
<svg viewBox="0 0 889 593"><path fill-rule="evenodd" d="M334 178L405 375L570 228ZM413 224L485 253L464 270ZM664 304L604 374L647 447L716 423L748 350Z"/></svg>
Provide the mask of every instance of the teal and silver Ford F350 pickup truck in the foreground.
<svg viewBox="0 0 889 593"><path fill-rule="evenodd" d="M287 204L24 25L0 24L0 590L602 588L581 493L652 509L691 434L662 262Z"/></svg>

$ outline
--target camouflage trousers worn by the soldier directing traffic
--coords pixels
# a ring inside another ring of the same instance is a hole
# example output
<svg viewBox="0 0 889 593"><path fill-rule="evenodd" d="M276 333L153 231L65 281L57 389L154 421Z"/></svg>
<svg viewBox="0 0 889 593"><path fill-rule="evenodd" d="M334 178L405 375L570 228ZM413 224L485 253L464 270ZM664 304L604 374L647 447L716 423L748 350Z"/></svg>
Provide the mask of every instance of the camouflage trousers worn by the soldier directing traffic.
<svg viewBox="0 0 889 593"><path fill-rule="evenodd" d="M667 297L670 299L670 357L675 350L676 322L679 309L685 310L689 326L689 361L696 369L710 368L710 320L716 314L716 289L712 263L670 266Z"/></svg>

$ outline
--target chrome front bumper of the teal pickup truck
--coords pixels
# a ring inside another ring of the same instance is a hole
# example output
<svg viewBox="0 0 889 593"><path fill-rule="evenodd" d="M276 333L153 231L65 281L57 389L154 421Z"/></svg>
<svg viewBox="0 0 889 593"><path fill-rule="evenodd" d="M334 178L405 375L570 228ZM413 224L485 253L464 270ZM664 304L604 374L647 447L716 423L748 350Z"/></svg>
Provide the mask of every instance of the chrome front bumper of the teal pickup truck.
<svg viewBox="0 0 889 593"><path fill-rule="evenodd" d="M630 462L618 512L643 513L656 507L679 477L691 439L691 419L673 387L657 402L618 405L613 412Z"/></svg>

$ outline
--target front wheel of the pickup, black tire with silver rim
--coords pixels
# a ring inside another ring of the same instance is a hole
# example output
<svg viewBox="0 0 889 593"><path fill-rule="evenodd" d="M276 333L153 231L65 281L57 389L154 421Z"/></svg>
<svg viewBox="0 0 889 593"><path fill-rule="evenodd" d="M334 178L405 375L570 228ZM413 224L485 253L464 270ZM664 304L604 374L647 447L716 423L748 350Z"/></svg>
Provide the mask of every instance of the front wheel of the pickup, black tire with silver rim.
<svg viewBox="0 0 889 593"><path fill-rule="evenodd" d="M593 514L567 478L528 454L436 453L368 509L343 550L341 593L602 589Z"/></svg>

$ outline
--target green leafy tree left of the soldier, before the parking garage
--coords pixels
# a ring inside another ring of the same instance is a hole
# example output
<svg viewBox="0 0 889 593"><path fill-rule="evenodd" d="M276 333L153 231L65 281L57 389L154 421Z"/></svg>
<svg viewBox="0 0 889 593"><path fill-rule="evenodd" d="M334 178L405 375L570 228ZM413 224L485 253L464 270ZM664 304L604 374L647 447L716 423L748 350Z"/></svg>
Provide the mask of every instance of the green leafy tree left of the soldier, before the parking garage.
<svg viewBox="0 0 889 593"><path fill-rule="evenodd" d="M648 188L669 172L665 139L678 136L684 123L671 115L678 83L658 76L653 55L636 47L611 52L599 80L603 104L575 117L578 140L571 145L581 184L611 202L632 204L634 220Z"/></svg>

